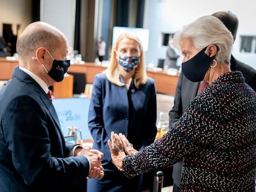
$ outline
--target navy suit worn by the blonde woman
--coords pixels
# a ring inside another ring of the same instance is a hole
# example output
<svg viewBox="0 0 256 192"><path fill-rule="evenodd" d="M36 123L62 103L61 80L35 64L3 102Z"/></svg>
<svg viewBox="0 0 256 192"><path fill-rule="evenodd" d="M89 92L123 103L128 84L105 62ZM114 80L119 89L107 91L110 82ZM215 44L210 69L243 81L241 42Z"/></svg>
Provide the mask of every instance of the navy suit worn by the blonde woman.
<svg viewBox="0 0 256 192"><path fill-rule="evenodd" d="M148 78L147 83L140 85L139 89L132 81L127 92L125 86L110 83L106 73L96 75L88 113L88 128L94 140L93 149L104 152L102 165L105 177L100 180L88 180L87 191L125 191L117 188L117 185L124 186L123 183L130 187L130 191L135 191L129 185L131 180L125 178L111 162L108 147L110 133L123 133L135 149L141 150L155 140L155 124L156 89L153 79ZM117 183L111 185L111 182ZM137 183L136 186L138 185ZM95 187L97 189L93 190Z"/></svg>

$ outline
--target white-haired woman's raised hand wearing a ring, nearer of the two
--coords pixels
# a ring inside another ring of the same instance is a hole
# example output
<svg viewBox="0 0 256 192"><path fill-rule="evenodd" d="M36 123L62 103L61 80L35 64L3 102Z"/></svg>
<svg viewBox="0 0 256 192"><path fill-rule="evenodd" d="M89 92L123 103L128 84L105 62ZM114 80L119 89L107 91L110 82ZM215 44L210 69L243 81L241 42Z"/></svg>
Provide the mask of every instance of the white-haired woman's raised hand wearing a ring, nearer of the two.
<svg viewBox="0 0 256 192"><path fill-rule="evenodd" d="M124 152L121 139L113 131L111 131L111 141L108 140L108 146L111 152L113 164L116 165L117 169L123 171L122 159L126 157L126 153Z"/></svg>

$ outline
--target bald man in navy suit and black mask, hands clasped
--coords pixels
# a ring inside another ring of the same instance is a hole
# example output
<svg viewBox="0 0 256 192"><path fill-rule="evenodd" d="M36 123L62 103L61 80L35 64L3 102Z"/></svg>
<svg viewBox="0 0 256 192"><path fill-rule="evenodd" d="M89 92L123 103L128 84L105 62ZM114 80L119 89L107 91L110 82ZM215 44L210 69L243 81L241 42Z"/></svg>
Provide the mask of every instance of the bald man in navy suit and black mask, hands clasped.
<svg viewBox="0 0 256 192"><path fill-rule="evenodd" d="M104 176L104 154L65 142L48 96L70 65L66 36L33 22L17 51L19 67L0 91L0 191L85 191L87 177Z"/></svg>

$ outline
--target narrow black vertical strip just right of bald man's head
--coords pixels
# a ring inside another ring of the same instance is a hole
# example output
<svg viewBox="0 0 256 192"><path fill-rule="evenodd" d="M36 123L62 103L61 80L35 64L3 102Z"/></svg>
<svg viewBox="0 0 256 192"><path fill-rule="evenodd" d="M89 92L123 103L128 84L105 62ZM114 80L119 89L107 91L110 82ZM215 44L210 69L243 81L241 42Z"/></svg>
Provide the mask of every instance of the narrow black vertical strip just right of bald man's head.
<svg viewBox="0 0 256 192"><path fill-rule="evenodd" d="M77 0L75 4L75 38L74 50L80 52L80 19L81 19L81 0Z"/></svg>

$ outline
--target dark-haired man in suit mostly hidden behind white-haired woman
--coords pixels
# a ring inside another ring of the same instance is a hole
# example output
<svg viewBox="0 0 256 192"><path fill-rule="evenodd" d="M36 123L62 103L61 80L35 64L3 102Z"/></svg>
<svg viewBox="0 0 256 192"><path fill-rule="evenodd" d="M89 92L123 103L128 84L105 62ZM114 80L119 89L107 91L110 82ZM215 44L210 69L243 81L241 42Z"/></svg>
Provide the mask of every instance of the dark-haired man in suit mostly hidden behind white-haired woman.
<svg viewBox="0 0 256 192"><path fill-rule="evenodd" d="M212 14L224 23L224 25L231 31L233 39L236 40L236 32L238 28L238 19L236 15L231 12L215 12ZM231 56L230 60L231 70L239 70L242 72L245 82L256 91L256 70L241 61L236 60ZM198 92L200 82L192 82L188 80L181 72L177 82L176 93L174 97L174 106L169 111L169 127L172 127L181 118L184 111L186 111L189 102L195 98ZM181 169L182 161L177 162L173 166L173 191L180 191L179 184L181 183Z"/></svg>

